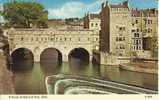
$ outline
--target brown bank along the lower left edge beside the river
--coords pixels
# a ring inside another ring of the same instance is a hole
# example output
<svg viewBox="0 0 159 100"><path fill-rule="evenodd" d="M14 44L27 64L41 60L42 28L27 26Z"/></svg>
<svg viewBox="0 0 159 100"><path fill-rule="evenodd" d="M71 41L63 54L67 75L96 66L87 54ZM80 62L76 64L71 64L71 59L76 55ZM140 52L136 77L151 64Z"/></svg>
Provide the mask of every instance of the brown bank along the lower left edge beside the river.
<svg viewBox="0 0 159 100"><path fill-rule="evenodd" d="M0 94L15 94L13 73L7 70L5 56L0 53Z"/></svg>

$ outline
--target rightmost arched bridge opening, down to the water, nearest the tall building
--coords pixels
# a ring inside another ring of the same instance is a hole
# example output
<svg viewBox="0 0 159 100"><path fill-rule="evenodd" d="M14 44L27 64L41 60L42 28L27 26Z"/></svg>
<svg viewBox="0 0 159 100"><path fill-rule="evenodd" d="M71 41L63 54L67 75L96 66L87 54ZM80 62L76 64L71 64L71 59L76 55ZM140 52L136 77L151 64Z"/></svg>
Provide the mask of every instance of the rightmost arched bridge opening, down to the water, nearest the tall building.
<svg viewBox="0 0 159 100"><path fill-rule="evenodd" d="M89 52L84 48L75 48L68 55L71 66L83 66L89 64Z"/></svg>

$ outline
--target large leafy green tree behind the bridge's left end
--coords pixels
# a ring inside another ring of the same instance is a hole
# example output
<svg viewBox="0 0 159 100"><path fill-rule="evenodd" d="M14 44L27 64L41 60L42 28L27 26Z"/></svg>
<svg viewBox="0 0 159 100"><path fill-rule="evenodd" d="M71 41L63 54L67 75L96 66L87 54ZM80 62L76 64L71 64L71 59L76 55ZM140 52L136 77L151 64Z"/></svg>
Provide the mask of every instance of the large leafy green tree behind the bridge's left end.
<svg viewBox="0 0 159 100"><path fill-rule="evenodd" d="M4 18L15 28L47 27L48 12L36 1L14 0L4 4Z"/></svg>

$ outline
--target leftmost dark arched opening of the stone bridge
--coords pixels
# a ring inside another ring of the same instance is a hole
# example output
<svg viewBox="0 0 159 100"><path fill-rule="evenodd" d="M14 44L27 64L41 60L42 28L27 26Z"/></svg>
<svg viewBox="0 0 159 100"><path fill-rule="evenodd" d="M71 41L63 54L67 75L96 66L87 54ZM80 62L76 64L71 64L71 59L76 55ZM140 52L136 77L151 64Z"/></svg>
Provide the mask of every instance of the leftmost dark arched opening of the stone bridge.
<svg viewBox="0 0 159 100"><path fill-rule="evenodd" d="M11 54L12 70L30 70L33 68L34 55L27 48L18 48Z"/></svg>

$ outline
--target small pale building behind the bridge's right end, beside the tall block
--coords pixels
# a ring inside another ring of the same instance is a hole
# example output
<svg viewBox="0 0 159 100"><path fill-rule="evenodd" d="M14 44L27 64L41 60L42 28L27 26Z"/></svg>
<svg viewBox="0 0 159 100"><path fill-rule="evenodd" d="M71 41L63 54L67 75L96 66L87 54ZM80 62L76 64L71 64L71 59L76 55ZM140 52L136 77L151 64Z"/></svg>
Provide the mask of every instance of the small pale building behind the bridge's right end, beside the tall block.
<svg viewBox="0 0 159 100"><path fill-rule="evenodd" d="M99 14L90 14L87 13L84 17L84 28L91 30L100 30L101 29L101 20Z"/></svg>

